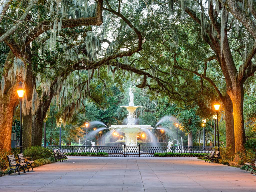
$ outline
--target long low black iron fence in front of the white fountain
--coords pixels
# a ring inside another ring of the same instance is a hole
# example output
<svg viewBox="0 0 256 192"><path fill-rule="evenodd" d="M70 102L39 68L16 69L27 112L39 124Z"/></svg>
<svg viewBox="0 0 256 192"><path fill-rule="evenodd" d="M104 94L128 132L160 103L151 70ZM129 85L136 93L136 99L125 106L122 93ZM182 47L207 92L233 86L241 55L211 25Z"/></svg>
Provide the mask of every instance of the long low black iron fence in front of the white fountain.
<svg viewBox="0 0 256 192"><path fill-rule="evenodd" d="M114 157L153 157L153 156L196 156L210 153L214 147L172 146L172 147L141 147L134 146L45 146L51 150L60 149L70 155L114 156Z"/></svg>

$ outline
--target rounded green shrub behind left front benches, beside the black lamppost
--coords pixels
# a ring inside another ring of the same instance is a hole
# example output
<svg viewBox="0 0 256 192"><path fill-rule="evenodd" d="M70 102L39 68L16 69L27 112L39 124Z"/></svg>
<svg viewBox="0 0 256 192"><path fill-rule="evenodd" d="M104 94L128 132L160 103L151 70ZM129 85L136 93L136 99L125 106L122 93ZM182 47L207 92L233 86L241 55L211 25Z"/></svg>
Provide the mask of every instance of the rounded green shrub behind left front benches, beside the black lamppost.
<svg viewBox="0 0 256 192"><path fill-rule="evenodd" d="M33 160L54 157L51 150L40 146L31 146L25 149L23 154L25 157L32 157Z"/></svg>

